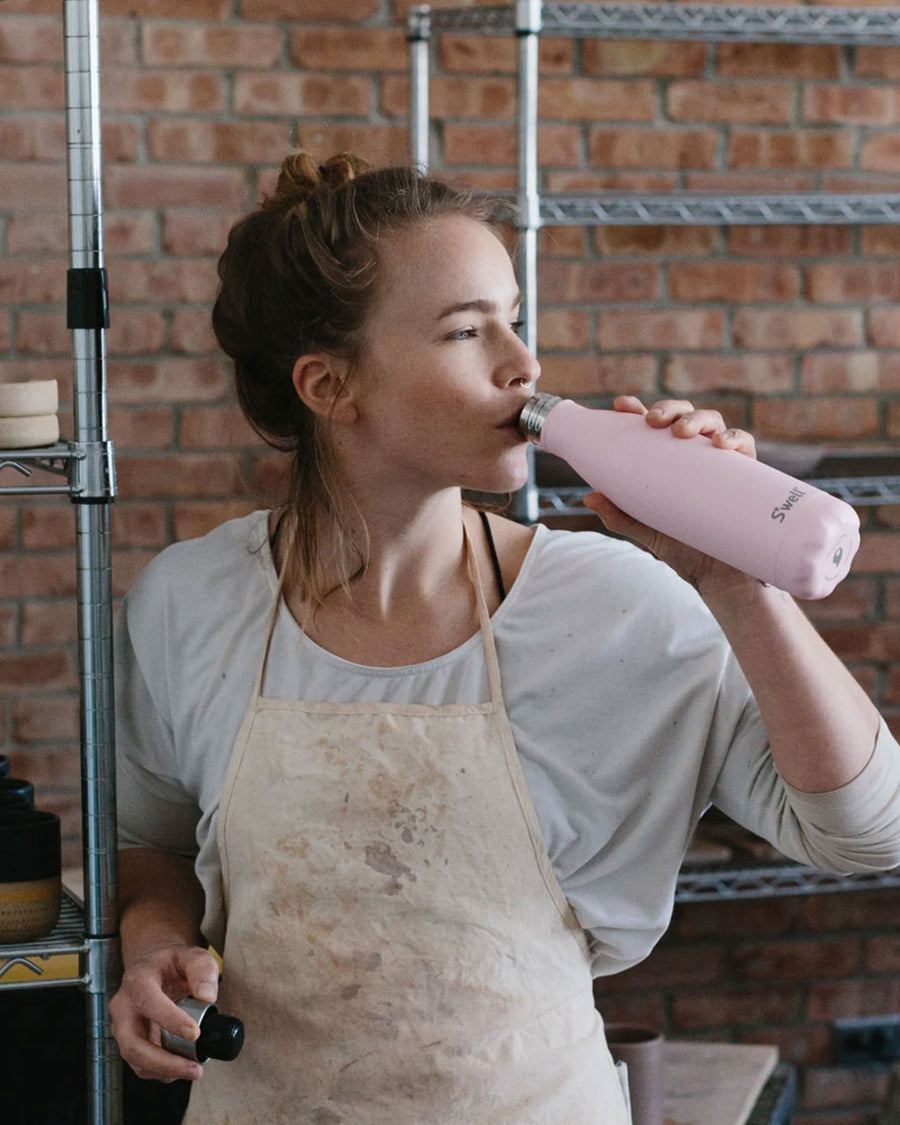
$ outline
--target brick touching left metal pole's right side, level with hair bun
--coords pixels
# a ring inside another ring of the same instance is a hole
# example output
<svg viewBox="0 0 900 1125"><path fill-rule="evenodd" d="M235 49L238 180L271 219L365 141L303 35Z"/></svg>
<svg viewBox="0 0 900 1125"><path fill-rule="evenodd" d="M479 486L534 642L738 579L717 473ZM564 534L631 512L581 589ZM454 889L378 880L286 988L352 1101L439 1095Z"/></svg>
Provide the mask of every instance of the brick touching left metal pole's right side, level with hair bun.
<svg viewBox="0 0 900 1125"><path fill-rule="evenodd" d="M106 172L106 200L111 208L210 207L235 210L246 201L238 169L180 164L117 164Z"/></svg>

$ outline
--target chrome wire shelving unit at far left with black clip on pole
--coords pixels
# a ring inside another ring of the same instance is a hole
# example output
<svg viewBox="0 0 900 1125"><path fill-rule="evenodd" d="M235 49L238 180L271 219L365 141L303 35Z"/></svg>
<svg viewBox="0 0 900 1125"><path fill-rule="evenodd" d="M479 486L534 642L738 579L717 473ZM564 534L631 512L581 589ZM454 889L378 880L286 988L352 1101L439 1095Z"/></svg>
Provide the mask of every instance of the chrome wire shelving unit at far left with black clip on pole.
<svg viewBox="0 0 900 1125"><path fill-rule="evenodd" d="M57 494L72 501L84 898L81 902L64 894L60 921L48 937L0 945L0 989L74 986L86 993L88 1119L91 1125L120 1125L120 1062L108 1016L119 978L109 536L116 480L107 432L98 27L98 0L63 0L73 440L0 450L4 479L10 471L18 475L0 487L0 495ZM37 480L32 479L35 471ZM51 483L40 483L44 475Z"/></svg>

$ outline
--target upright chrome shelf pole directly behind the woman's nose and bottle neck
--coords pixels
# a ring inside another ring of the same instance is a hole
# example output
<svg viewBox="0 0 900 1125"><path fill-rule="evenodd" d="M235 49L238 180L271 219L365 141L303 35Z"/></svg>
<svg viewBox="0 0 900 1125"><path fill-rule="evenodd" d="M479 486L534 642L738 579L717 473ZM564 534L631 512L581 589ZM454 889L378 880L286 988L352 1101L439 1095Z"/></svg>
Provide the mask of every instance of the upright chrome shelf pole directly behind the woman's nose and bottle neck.
<svg viewBox="0 0 900 1125"><path fill-rule="evenodd" d="M538 39L541 29L541 0L519 0L515 6L515 34L519 46L519 286L522 292L524 341L538 350ZM529 447L529 479L516 494L513 511L526 523L537 523L540 514L534 479L534 451Z"/></svg>

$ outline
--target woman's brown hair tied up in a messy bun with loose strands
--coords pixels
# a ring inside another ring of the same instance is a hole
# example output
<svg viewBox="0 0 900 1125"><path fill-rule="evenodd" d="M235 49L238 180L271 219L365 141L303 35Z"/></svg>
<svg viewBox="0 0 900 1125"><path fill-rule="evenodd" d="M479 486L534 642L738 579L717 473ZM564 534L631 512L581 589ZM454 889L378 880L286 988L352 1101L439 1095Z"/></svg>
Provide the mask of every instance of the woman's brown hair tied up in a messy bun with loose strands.
<svg viewBox="0 0 900 1125"><path fill-rule="evenodd" d="M296 541L288 577L313 606L328 593L318 541L332 529L341 585L364 568L353 502L338 479L328 420L298 397L295 361L325 351L359 359L378 284L378 242L385 234L441 215L465 215L495 231L508 223L501 198L478 197L413 168L369 169L342 153L317 165L308 153L288 156L274 194L231 230L218 263L213 327L234 360L241 407L253 429L292 454L285 508ZM327 519L324 519L327 518ZM351 573L346 561L356 555Z"/></svg>

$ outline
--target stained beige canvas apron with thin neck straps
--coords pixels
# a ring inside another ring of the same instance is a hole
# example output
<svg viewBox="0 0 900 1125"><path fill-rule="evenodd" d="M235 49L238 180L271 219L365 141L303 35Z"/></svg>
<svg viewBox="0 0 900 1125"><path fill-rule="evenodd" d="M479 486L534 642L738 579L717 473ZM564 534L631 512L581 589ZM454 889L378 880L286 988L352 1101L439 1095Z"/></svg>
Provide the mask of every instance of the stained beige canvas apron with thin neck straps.
<svg viewBox="0 0 900 1125"><path fill-rule="evenodd" d="M219 1009L186 1125L624 1125L584 933L503 706L261 694L218 814Z"/></svg>

